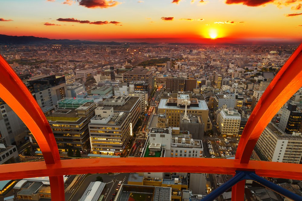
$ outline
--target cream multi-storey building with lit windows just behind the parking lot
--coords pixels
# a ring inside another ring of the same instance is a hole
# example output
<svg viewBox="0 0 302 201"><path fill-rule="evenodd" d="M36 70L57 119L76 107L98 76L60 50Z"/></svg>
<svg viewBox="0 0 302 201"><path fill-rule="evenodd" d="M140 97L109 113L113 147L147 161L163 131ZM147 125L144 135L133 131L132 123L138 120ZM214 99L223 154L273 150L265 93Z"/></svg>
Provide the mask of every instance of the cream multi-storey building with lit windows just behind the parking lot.
<svg viewBox="0 0 302 201"><path fill-rule="evenodd" d="M218 131L222 137L238 137L241 116L236 109L226 108L217 115Z"/></svg>

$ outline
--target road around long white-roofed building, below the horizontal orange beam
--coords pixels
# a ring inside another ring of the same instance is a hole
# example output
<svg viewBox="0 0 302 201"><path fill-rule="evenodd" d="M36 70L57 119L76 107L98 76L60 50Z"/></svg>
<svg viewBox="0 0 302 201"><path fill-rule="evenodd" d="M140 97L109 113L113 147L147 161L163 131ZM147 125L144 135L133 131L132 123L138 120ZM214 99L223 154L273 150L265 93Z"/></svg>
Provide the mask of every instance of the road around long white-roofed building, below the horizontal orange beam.
<svg viewBox="0 0 302 201"><path fill-rule="evenodd" d="M79 182L77 182L73 188L70 189L72 191L72 196L67 198L65 193L65 200L66 201L78 201L82 195L84 194L85 190L89 186L90 182L93 182L96 180L96 177L101 176L103 179L103 182L106 182L106 189L105 193L106 197L104 201L110 201L112 194L117 191L115 190L118 186L119 181L123 181L123 184L127 184L128 177L130 173L115 173L112 175L109 174L90 174L90 175L84 175L80 178Z"/></svg>

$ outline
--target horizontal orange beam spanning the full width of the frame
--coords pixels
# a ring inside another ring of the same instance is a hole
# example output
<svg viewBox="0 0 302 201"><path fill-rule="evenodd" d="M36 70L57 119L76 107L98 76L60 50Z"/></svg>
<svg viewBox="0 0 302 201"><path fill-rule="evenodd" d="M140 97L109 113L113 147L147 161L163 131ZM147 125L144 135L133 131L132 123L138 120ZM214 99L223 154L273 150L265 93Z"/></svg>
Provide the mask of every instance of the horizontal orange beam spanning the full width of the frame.
<svg viewBox="0 0 302 201"><path fill-rule="evenodd" d="M268 161L239 163L234 159L210 158L101 158L69 159L46 165L43 161L1 165L0 178L59 176L88 173L117 172L192 172L209 174L235 174L235 171L255 171L259 176L302 180L300 164Z"/></svg>

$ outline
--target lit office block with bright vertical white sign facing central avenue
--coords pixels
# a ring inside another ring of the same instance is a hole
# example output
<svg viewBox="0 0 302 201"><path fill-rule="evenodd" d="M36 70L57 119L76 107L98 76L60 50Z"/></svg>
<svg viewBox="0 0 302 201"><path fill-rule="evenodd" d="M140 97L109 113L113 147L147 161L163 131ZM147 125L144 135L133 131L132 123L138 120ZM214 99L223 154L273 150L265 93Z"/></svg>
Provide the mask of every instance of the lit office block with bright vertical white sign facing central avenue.
<svg viewBox="0 0 302 201"><path fill-rule="evenodd" d="M128 112L114 112L112 107L97 107L89 123L93 154L121 155L132 135Z"/></svg>

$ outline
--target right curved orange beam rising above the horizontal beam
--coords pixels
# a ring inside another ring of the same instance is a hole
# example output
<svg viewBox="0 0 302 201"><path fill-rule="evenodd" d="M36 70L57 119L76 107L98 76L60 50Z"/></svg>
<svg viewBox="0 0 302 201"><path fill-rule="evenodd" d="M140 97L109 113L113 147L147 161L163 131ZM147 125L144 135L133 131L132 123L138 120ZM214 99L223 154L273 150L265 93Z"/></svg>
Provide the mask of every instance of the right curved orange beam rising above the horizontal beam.
<svg viewBox="0 0 302 201"><path fill-rule="evenodd" d="M235 159L248 163L267 124L302 86L302 43L286 61L252 111L241 135Z"/></svg>

